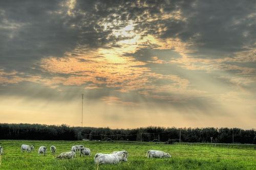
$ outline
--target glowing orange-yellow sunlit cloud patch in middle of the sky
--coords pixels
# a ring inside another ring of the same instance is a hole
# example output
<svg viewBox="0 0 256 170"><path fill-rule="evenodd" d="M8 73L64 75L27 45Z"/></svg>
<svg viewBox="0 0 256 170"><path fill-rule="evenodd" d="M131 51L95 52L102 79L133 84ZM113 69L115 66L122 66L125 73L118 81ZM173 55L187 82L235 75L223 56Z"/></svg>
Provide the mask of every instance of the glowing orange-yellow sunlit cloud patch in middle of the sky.
<svg viewBox="0 0 256 170"><path fill-rule="evenodd" d="M68 78L57 82L63 85L82 85L90 82L95 85L116 88L122 92L157 88L151 85L152 79L166 79L177 83L182 80L174 75L156 74L145 66L147 62L137 61L133 56L125 56L127 53L134 53L144 43L157 43L154 37L147 36L138 39L137 43L133 45L128 45L123 41L117 43L121 46L99 48L97 51L87 53L78 50L67 53L66 58L43 59L41 67L52 74L67 74ZM72 56L74 53L76 53L76 57ZM182 83L177 87L181 86ZM171 88L171 86L166 87Z"/></svg>

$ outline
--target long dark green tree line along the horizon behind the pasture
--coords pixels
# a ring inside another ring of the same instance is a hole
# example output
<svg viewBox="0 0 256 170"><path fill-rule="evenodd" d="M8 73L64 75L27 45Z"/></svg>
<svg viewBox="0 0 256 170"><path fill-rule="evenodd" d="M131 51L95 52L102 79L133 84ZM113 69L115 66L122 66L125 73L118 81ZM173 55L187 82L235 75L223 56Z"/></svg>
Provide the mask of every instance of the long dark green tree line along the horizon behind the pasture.
<svg viewBox="0 0 256 170"><path fill-rule="evenodd" d="M130 140L212 143L253 143L256 131L240 128L164 128L110 129L69 127L67 125L0 124L0 139L27 140Z"/></svg>

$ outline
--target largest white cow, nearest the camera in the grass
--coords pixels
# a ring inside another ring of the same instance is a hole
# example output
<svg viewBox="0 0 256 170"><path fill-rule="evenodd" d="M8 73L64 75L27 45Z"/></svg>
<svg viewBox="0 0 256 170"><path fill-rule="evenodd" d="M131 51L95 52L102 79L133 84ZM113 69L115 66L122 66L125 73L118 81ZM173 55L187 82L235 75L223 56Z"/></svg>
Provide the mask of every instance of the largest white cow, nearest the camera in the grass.
<svg viewBox="0 0 256 170"><path fill-rule="evenodd" d="M94 157L94 162L96 164L117 164L120 161L127 162L125 154L96 154Z"/></svg>

